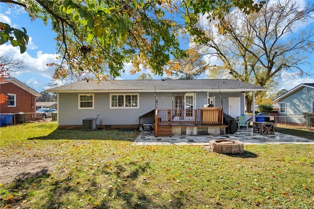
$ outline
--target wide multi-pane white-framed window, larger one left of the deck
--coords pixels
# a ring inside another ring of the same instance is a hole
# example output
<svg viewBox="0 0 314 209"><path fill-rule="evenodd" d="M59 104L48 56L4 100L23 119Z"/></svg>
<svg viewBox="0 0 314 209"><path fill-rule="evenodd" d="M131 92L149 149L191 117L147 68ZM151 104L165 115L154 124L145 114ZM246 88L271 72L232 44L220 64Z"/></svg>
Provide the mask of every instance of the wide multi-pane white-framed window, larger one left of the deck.
<svg viewBox="0 0 314 209"><path fill-rule="evenodd" d="M110 108L138 108L138 94L110 94Z"/></svg>

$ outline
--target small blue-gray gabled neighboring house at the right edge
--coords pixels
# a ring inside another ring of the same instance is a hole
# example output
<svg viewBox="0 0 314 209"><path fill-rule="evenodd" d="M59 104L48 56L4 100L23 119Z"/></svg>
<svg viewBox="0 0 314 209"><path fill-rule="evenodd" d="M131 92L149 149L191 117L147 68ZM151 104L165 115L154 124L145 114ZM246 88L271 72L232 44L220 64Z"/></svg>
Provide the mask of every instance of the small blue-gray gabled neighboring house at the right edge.
<svg viewBox="0 0 314 209"><path fill-rule="evenodd" d="M314 112L314 83L301 83L273 100L279 104L279 120L302 124L304 112Z"/></svg>

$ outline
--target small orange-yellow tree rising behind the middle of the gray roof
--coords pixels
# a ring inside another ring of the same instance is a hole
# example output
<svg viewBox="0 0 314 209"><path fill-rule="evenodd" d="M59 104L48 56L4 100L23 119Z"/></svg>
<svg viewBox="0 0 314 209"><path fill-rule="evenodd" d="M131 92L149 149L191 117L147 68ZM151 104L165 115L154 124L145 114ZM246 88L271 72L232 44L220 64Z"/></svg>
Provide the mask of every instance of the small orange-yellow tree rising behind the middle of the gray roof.
<svg viewBox="0 0 314 209"><path fill-rule="evenodd" d="M173 79L196 79L208 69L208 63L194 48L186 51L187 58L169 60L166 75Z"/></svg>

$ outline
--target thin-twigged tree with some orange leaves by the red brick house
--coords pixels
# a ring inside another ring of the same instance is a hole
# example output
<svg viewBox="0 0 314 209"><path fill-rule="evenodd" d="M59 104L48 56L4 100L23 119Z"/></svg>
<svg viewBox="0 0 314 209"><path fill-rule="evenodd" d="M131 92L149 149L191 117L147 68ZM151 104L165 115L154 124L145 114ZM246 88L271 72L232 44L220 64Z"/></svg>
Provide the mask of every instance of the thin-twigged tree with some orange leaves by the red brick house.
<svg viewBox="0 0 314 209"><path fill-rule="evenodd" d="M24 60L11 59L8 56L0 56L0 84L6 82L5 78L9 78L11 73L18 71L24 67ZM0 94L0 104L7 101L7 96Z"/></svg>

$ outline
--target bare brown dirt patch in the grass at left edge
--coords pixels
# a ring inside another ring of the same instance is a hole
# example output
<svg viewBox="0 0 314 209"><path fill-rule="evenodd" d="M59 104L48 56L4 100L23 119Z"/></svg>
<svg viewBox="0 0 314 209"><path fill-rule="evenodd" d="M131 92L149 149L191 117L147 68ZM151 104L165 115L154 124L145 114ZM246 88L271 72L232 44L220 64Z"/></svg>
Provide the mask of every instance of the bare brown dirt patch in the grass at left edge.
<svg viewBox="0 0 314 209"><path fill-rule="evenodd" d="M1 157L0 183L7 184L33 176L48 174L54 170L49 160L38 157Z"/></svg>

